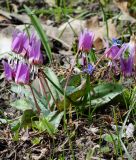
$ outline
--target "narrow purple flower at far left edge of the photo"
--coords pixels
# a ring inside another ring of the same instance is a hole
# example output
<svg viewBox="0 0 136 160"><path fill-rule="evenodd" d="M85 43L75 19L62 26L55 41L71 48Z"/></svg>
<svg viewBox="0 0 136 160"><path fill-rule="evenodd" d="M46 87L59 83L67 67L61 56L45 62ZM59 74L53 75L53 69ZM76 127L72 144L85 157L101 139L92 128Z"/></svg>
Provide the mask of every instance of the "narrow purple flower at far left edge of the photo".
<svg viewBox="0 0 136 160"><path fill-rule="evenodd" d="M3 61L3 66L4 66L4 73L5 73L5 78L6 80L8 81L12 81L12 69L10 67L10 65L6 62L6 61Z"/></svg>

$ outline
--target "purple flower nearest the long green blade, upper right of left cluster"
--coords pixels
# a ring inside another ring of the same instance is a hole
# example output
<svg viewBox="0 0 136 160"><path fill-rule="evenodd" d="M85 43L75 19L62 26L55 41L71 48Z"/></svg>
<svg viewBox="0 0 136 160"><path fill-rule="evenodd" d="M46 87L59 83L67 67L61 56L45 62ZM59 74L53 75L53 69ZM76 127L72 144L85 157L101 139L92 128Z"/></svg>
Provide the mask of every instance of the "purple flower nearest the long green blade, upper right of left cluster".
<svg viewBox="0 0 136 160"><path fill-rule="evenodd" d="M41 54L41 41L34 40L29 48L29 62L31 64L42 64L43 56Z"/></svg>

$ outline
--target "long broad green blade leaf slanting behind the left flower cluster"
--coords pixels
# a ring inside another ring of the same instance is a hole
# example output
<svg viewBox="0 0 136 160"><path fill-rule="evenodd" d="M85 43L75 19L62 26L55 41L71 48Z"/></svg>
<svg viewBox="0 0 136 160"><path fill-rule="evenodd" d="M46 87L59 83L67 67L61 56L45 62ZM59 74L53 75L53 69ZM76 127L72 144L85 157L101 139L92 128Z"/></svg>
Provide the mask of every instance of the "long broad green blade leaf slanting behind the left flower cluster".
<svg viewBox="0 0 136 160"><path fill-rule="evenodd" d="M42 44L44 46L44 49L45 49L47 56L48 56L50 63L51 63L51 60L52 60L51 48L50 48L46 33L44 32L44 30L42 28L41 22L39 21L37 16L31 12L31 10L27 6L24 5L24 8L25 8L27 14L29 15L29 17L31 18L31 22L32 22L33 26L35 27L37 33L39 34L39 37L41 38Z"/></svg>

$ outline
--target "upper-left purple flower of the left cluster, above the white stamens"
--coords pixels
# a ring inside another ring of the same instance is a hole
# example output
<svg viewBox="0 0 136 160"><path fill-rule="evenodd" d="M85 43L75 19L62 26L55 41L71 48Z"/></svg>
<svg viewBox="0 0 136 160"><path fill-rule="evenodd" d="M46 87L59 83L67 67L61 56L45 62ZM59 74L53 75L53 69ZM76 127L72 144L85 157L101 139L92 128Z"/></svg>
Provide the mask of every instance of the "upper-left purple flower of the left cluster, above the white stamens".
<svg viewBox="0 0 136 160"><path fill-rule="evenodd" d="M25 47L27 45L28 45L28 37L24 32L15 32L13 34L13 40L11 45L11 49L13 52L25 56L27 53Z"/></svg>

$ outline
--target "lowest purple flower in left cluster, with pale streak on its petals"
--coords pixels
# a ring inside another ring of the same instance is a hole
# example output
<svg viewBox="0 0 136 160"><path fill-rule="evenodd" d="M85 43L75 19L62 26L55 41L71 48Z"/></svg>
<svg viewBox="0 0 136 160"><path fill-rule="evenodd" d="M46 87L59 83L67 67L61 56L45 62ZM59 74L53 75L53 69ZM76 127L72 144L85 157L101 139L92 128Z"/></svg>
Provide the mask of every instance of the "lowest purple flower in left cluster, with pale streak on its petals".
<svg viewBox="0 0 136 160"><path fill-rule="evenodd" d="M27 64L19 63L15 75L15 82L18 84L29 84L29 67Z"/></svg>

